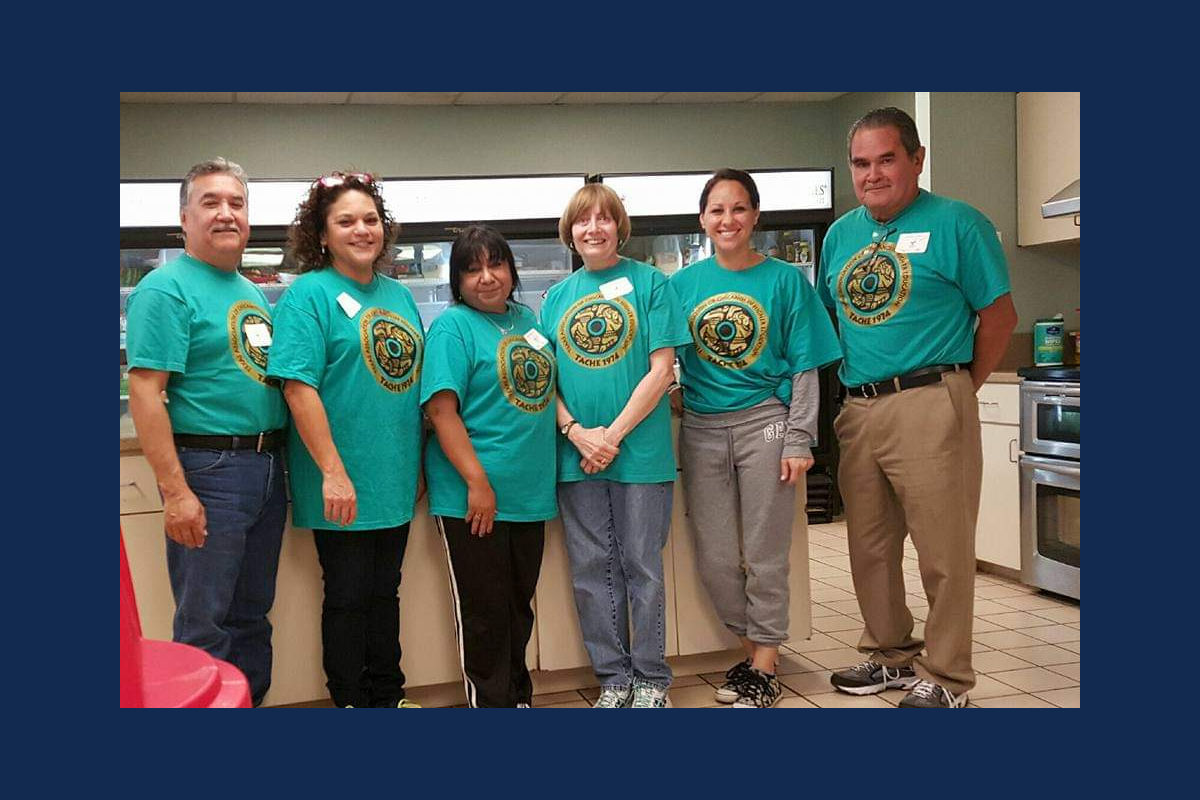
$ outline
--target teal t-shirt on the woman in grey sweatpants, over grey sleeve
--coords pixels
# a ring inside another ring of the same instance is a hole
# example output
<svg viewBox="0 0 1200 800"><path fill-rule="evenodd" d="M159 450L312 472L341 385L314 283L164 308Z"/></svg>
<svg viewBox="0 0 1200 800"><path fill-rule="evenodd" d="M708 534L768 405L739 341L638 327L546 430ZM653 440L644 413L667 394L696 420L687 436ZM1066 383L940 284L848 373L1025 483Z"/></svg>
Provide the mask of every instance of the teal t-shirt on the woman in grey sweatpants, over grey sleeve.
<svg viewBox="0 0 1200 800"><path fill-rule="evenodd" d="M792 375L841 357L829 314L804 273L767 258L726 270L709 257L671 277L691 347L679 350L692 411L740 411L768 397L792 402Z"/></svg>

